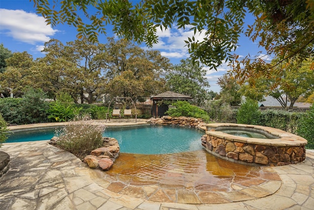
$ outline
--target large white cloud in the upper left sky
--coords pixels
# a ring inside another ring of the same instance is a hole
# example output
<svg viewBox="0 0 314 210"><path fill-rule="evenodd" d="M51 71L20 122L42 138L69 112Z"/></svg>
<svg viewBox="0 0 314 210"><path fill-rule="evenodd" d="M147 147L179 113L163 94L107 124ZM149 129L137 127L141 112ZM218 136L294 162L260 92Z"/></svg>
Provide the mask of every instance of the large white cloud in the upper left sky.
<svg viewBox="0 0 314 210"><path fill-rule="evenodd" d="M45 23L45 19L35 13L27 13L23 10L0 9L1 33L28 44L47 42L49 36L58 30L53 30Z"/></svg>

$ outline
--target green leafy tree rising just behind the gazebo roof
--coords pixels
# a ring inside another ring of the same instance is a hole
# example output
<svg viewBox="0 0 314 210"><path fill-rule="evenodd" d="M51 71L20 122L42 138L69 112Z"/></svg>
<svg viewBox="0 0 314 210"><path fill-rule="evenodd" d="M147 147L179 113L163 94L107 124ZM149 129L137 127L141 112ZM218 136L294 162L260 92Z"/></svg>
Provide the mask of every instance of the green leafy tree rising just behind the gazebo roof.
<svg viewBox="0 0 314 210"><path fill-rule="evenodd" d="M180 60L166 75L166 87L174 92L192 97L191 103L201 105L209 100L209 82L206 70L202 66L193 64L192 60Z"/></svg>

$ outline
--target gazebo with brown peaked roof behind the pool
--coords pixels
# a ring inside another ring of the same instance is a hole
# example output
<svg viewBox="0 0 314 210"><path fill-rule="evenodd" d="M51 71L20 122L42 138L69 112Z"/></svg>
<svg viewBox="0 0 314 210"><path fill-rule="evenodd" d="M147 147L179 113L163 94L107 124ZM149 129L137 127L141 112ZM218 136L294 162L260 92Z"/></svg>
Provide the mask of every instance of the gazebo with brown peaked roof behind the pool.
<svg viewBox="0 0 314 210"><path fill-rule="evenodd" d="M155 118L164 116L164 113L168 110L168 105L163 103L164 100L189 100L192 97L183 95L177 92L166 91L158 95L152 96L153 108L152 115Z"/></svg>

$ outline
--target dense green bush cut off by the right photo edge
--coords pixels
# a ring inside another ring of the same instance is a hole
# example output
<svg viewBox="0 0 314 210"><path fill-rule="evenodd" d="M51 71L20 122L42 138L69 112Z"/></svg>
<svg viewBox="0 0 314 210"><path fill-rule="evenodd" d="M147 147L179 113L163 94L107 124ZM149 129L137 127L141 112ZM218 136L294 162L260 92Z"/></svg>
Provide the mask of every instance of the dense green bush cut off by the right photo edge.
<svg viewBox="0 0 314 210"><path fill-rule="evenodd" d="M301 118L297 133L308 140L307 149L314 149L314 105Z"/></svg>

